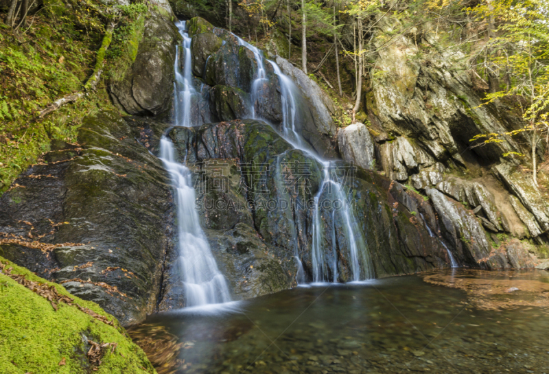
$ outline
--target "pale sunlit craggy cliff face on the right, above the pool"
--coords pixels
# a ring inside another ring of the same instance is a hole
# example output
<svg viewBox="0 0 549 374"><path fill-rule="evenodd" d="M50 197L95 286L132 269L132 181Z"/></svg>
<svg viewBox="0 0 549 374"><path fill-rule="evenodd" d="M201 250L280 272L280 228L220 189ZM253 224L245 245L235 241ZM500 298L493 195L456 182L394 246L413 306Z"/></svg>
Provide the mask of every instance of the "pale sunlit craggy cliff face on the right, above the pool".
<svg viewBox="0 0 549 374"><path fill-rule="evenodd" d="M391 30L387 21L374 45L386 42ZM358 141L349 142L349 130L340 130L342 156L360 164L374 152L379 172L426 194L439 218L440 237L464 263L533 266L536 256L548 254L547 189L533 187L531 172L502 156L523 153L520 161L527 164L530 135L488 145L470 141L479 134L517 130L522 119L513 102L483 105L486 87L467 73L455 48L426 52L443 32L423 25L379 51L364 103L373 146L357 154ZM353 132L358 137L358 130Z"/></svg>

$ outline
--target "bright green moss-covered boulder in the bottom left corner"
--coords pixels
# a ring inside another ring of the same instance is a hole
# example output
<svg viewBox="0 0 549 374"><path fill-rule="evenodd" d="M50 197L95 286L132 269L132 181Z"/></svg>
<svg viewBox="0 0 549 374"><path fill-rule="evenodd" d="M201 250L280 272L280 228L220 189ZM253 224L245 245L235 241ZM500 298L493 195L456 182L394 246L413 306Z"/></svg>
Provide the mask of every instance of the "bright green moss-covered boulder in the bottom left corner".
<svg viewBox="0 0 549 374"><path fill-rule="evenodd" d="M2 257L0 267L1 373L156 373L116 318L99 305ZM48 294L53 292L45 289L54 288L64 301L50 301L31 288ZM95 353L93 343L109 344L100 349L98 365L87 355L90 349Z"/></svg>

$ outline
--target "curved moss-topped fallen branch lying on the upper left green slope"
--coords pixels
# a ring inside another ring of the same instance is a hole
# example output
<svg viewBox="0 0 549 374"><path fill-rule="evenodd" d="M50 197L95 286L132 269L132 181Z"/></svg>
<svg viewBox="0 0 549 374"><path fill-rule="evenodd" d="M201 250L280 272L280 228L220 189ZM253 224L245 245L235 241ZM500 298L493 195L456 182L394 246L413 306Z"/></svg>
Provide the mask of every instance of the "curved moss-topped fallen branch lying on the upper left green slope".
<svg viewBox="0 0 549 374"><path fill-rule="evenodd" d="M60 108L61 106L64 106L71 102L76 102L80 100L82 97L84 97L85 95L88 95L90 91L95 90L95 86L97 86L97 82L99 82L101 73L103 72L103 63L105 60L105 53L110 45L110 41L113 40L114 30L115 30L115 23L113 22L109 23L107 30L105 32L105 36L103 37L101 47L100 49L97 50L97 59L95 60L95 68L93 69L93 74L91 75L89 80L86 82L86 84L84 84L84 88L82 89L82 91L78 93L73 93L71 95L67 95L65 97L61 97L60 99L48 104L46 108L44 108L43 110L40 110L35 120L42 119L49 113L54 112L55 110L58 110L58 108Z"/></svg>

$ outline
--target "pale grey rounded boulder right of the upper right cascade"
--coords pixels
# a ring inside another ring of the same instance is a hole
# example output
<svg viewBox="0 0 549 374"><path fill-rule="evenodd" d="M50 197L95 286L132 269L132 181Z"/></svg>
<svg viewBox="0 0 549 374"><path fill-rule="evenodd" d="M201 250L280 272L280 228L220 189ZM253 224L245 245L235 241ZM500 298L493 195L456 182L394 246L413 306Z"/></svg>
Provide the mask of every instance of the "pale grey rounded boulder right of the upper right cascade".
<svg viewBox="0 0 549 374"><path fill-rule="evenodd" d="M352 124L338 130L338 148L342 158L364 169L375 170L372 137L364 124Z"/></svg>

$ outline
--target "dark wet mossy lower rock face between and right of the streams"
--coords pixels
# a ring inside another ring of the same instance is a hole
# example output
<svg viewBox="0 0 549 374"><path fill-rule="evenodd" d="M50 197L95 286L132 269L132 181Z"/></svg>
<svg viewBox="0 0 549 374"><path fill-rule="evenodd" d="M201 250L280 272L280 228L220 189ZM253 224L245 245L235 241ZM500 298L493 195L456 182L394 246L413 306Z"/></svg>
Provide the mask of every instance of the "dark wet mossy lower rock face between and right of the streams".
<svg viewBox="0 0 549 374"><path fill-rule="evenodd" d="M214 255L224 274L229 279L240 281L255 277L260 271L270 274L269 282L261 281L261 286L252 282L248 285L250 290L242 291L242 294L259 294L265 293L265 288L280 290L288 287L296 275L294 255L303 261L310 280L314 219L314 209L310 204L318 192L323 166L303 152L294 150L261 121L231 121L199 128L176 127L170 132L170 137L180 159L186 157L187 164L195 165L200 186L212 185L215 179L211 174L212 167L218 170L216 175L222 175L226 180L217 183L226 185L224 191L205 189L197 200ZM295 186L287 184L287 174L291 170L285 167L295 163L307 165L307 188L294 190ZM256 168L250 169L253 165L257 165ZM261 169L257 170L258 166ZM349 165L334 164L335 170L341 173L349 170ZM428 217L435 229L434 211L421 196L410 195L390 180L361 167L353 178L347 179L344 188L349 193L344 196L349 196L354 204L352 214L357 222L353 229L355 235L360 235L355 239L364 244L360 251L371 257L375 276L444 266L447 261L445 249L438 238L429 235L430 229L417 216L419 212ZM331 195L335 192L327 189L321 199L330 201L337 198ZM223 206L215 204L216 201L221 201ZM330 276L337 272L340 281L348 281L351 269L346 221L334 209L320 209L320 215L325 222L322 248L328 264L327 272ZM261 240L258 241L256 235ZM244 242L250 243L246 244L246 251L243 246L238 249L239 243ZM247 258L255 250L257 253L252 258L257 262L253 269L235 266L240 261L251 264ZM262 259L260 255L265 252L269 255ZM242 260L235 261L235 258ZM276 261L272 262L273 258ZM271 265L264 263L267 260ZM233 287L238 294L237 286L233 284Z"/></svg>

